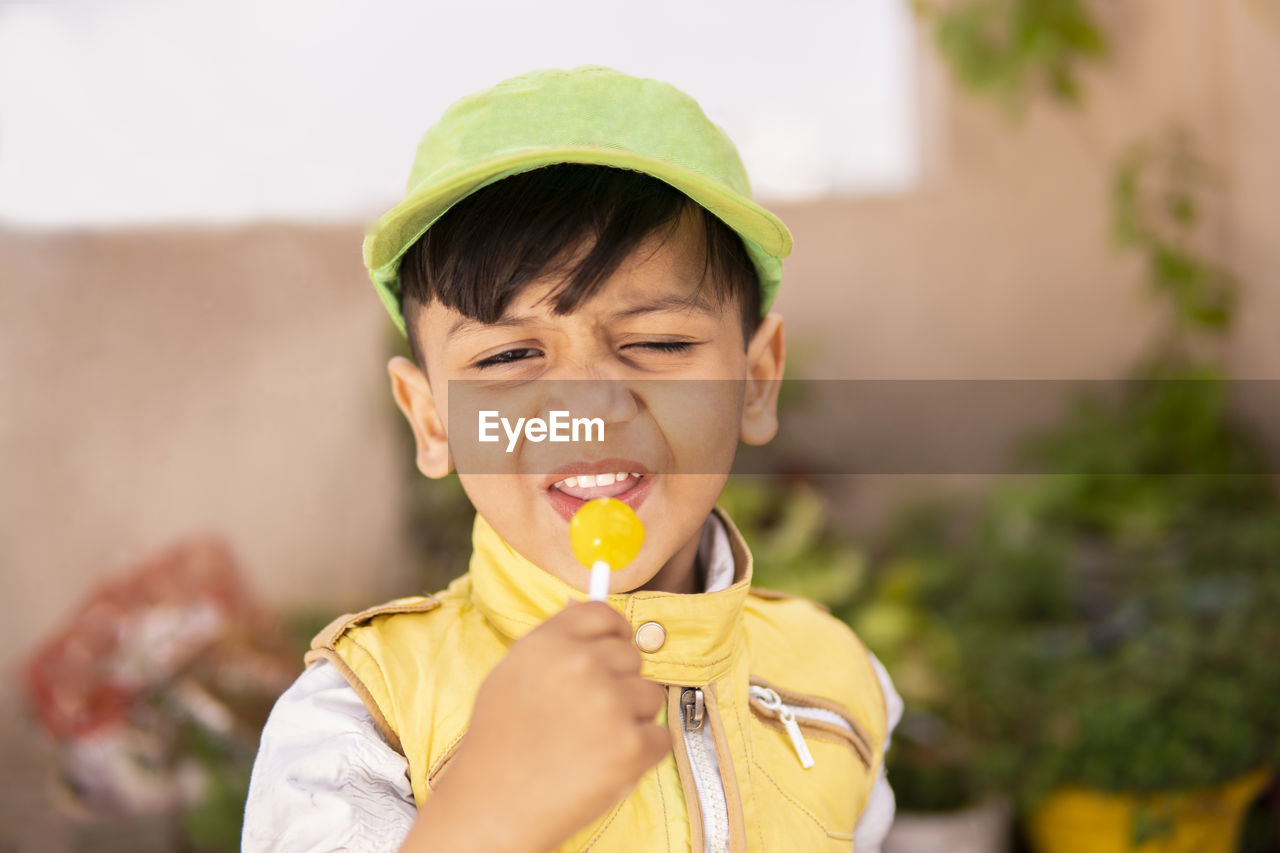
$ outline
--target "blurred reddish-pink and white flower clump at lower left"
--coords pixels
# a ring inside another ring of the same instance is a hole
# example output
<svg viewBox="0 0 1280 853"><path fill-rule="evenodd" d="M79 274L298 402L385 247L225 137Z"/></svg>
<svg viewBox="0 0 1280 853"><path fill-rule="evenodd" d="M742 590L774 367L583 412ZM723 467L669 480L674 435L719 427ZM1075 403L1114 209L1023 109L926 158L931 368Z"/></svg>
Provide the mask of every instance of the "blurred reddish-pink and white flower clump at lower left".
<svg viewBox="0 0 1280 853"><path fill-rule="evenodd" d="M184 726L228 754L251 751L297 667L227 546L201 537L92 590L24 680L76 803L137 813L198 798L205 774L180 753Z"/></svg>

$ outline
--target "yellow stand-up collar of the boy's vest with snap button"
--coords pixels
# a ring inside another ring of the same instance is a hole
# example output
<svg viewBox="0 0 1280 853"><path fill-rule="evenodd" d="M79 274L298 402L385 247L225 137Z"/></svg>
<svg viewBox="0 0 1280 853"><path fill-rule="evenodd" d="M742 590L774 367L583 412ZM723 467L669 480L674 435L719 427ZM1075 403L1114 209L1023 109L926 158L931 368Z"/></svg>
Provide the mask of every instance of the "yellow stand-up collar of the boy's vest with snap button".
<svg viewBox="0 0 1280 853"><path fill-rule="evenodd" d="M631 624L632 634L658 622L666 642L643 653L641 675L662 684L700 686L727 674L741 648L742 607L751 584L751 552L728 515L713 512L724 525L733 555L733 583L712 593L639 590L609 596L608 603ZM585 601L575 589L517 553L476 514L471 535L471 601L502 634L518 639L564 607Z"/></svg>

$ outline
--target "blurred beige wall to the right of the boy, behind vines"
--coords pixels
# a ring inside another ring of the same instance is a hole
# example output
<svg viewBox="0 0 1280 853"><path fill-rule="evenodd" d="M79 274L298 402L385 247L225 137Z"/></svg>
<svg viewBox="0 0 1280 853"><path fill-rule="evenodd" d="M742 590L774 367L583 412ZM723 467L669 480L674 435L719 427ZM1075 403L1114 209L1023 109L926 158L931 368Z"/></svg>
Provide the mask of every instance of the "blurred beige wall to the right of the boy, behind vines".
<svg viewBox="0 0 1280 853"><path fill-rule="evenodd" d="M795 337L820 343L814 374L1119 375L1160 316L1140 264L1107 242L1108 170L1130 142L1179 120L1222 172L1210 248L1245 283L1224 356L1239 378L1280 379L1280 4L1093 6L1114 45L1085 76L1084 110L1037 104L1012 123L956 92L924 41L923 186L781 209L796 248L777 307ZM859 530L938 485L972 491L980 478L832 482Z"/></svg>

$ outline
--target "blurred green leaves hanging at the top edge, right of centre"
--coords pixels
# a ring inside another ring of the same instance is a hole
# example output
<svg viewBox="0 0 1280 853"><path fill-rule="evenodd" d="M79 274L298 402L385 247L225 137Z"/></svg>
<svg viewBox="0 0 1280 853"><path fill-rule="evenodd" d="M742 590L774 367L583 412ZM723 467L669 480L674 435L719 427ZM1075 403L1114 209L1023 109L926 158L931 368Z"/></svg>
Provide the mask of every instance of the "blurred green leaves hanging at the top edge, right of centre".
<svg viewBox="0 0 1280 853"><path fill-rule="evenodd" d="M1037 95L1078 104L1079 68L1107 41L1083 0L913 0L955 79L1016 114Z"/></svg>

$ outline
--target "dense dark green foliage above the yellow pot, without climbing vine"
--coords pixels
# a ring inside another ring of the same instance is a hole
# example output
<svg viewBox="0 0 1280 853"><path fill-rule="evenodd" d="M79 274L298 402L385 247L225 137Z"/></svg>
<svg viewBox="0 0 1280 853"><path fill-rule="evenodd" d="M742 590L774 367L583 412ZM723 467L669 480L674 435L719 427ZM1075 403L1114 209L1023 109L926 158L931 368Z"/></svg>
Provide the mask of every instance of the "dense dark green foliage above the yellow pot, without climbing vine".
<svg viewBox="0 0 1280 853"><path fill-rule="evenodd" d="M1222 416L1221 380L1143 388L1038 444L1075 473L904 528L882 573L914 561L914 603L954 640L929 656L946 689L927 710L968 743L983 785L1024 804L1064 784L1201 788L1280 758L1280 503ZM1188 439L1169 402L1217 428ZM1243 452L1221 474L1179 475L1170 443L1189 470ZM1135 473L1100 467L1121 453Z"/></svg>

